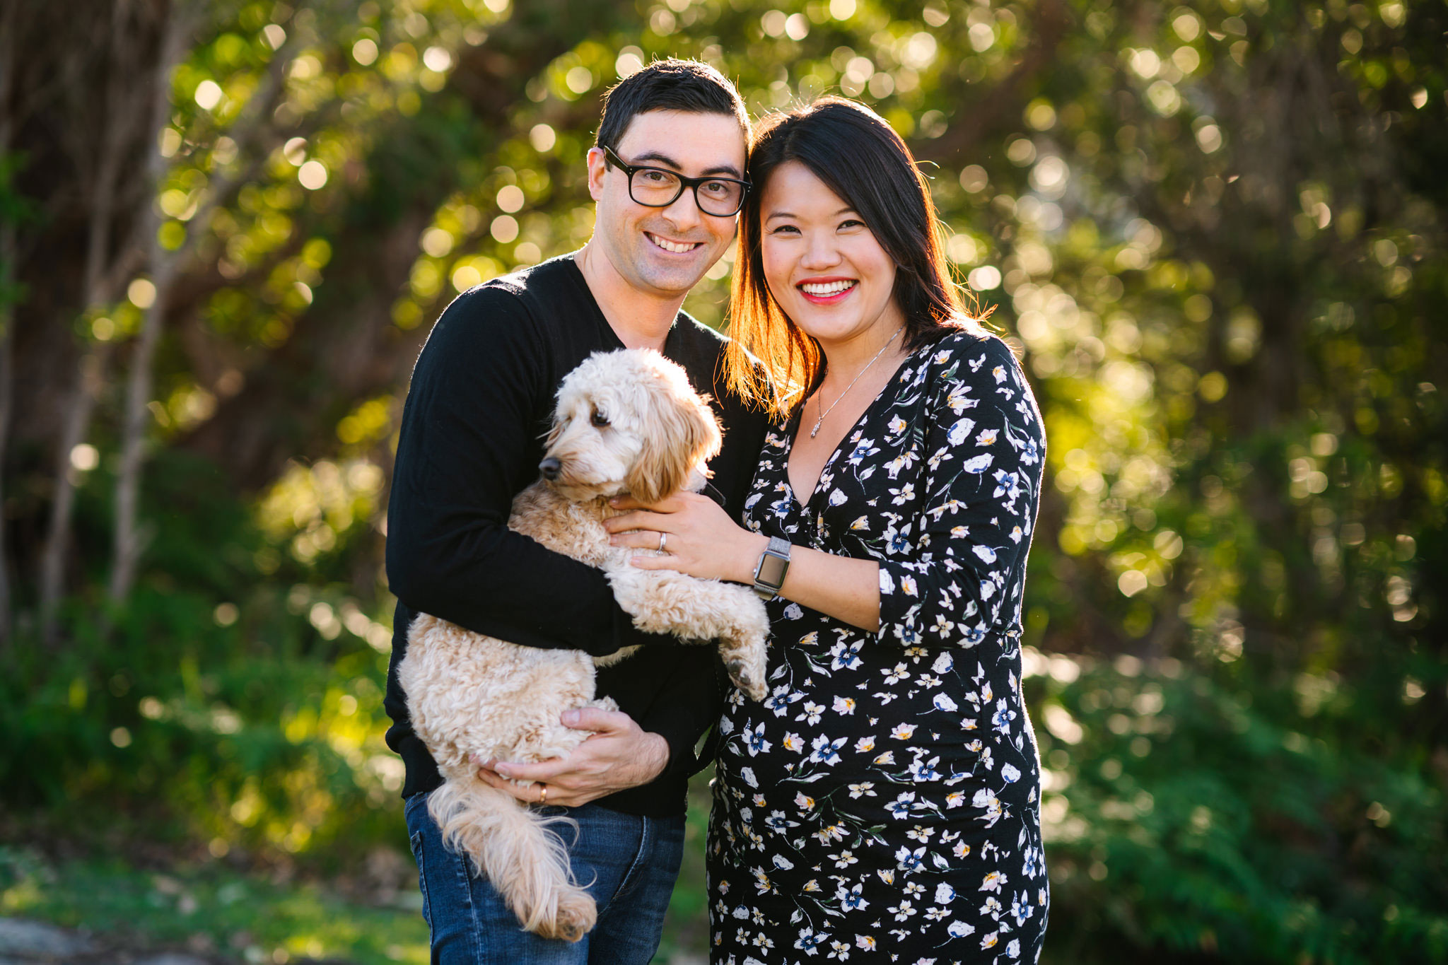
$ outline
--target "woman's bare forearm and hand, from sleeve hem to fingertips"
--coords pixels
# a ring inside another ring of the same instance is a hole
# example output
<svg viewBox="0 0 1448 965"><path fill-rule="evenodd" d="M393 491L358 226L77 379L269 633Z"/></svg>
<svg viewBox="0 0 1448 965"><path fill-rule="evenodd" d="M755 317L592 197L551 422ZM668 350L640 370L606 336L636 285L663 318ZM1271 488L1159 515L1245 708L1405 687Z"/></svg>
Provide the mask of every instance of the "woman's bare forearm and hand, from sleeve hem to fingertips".
<svg viewBox="0 0 1448 965"><path fill-rule="evenodd" d="M657 550L659 534L666 534L668 556L634 557L633 564L643 570L679 570L752 584L759 556L769 545L769 537L738 525L698 493L676 493L653 506L623 496L614 505L631 511L604 522L614 534L614 545ZM779 595L870 632L880 625L880 564L875 560L796 545Z"/></svg>

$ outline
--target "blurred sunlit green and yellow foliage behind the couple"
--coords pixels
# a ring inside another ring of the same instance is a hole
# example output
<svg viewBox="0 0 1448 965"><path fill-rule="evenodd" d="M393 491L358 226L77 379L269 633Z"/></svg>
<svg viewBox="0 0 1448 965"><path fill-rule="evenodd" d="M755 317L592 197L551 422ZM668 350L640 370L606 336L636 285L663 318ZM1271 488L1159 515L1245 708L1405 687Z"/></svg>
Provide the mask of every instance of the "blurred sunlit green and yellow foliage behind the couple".
<svg viewBox="0 0 1448 965"><path fill-rule="evenodd" d="M71 459L56 647L28 576L54 438L22 420L6 454L7 836L342 877L405 843L379 563L411 359L458 291L586 240L599 93L688 55L756 114L824 91L885 114L1034 379L1047 961L1448 961L1441 3L198 9L136 148L165 158L135 210L188 285L156 360L153 535L106 611L111 391L96 459ZM240 137L277 56L278 103ZM28 130L4 211L35 243L0 297L17 370L64 373L126 352L148 273L75 302L55 148ZM711 324L728 268L686 305ZM694 874L676 953L705 940Z"/></svg>

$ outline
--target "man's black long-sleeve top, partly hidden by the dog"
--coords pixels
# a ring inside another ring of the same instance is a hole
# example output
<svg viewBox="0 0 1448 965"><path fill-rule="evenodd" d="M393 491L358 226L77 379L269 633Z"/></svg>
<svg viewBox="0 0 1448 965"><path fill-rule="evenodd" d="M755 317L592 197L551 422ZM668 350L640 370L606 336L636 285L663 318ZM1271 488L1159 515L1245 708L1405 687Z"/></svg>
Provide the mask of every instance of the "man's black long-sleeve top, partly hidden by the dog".
<svg viewBox="0 0 1448 965"><path fill-rule="evenodd" d="M721 709L715 650L636 629L599 570L507 527L513 498L537 479L559 382L594 352L621 347L572 255L465 292L427 337L403 411L387 522L387 576L398 600L387 742L407 767L404 797L442 783L397 679L407 628L424 612L527 647L602 655L654 644L599 668L598 694L660 734L669 765L653 783L598 803L650 816L683 810L694 744ZM724 339L685 313L663 346L714 399L724 449L710 463L708 492L738 519L765 417L724 389L723 352Z"/></svg>

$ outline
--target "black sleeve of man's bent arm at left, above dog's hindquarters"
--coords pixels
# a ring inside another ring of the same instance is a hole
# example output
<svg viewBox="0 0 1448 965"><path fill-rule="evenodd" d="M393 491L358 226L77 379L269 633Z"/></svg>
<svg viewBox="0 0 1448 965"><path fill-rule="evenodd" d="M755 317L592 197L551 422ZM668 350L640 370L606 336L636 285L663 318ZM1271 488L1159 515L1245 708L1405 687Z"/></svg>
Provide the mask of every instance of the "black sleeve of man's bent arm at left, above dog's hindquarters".
<svg viewBox="0 0 1448 965"><path fill-rule="evenodd" d="M547 343L520 299L481 288L433 327L413 370L388 503L387 576L407 606L527 647L608 654L634 629L604 574L508 530L537 476Z"/></svg>

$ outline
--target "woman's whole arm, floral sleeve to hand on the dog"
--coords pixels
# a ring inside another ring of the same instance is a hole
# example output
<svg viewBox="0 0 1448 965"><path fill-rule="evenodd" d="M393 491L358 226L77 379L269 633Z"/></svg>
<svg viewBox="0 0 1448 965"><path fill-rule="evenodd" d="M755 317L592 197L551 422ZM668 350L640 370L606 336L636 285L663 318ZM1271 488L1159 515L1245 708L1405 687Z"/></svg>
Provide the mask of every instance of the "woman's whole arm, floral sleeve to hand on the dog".
<svg viewBox="0 0 1448 965"><path fill-rule="evenodd" d="M1030 388L998 339L956 344L943 360L919 449L935 467L922 477L917 553L883 563L794 547L780 596L902 645L953 645L1019 622L1019 583L1009 579L1031 545L1045 440ZM960 405L966 399L970 405ZM963 417L969 411L969 417ZM767 538L710 512L691 493L633 509L605 525L613 543L662 557L634 566L753 583ZM641 532L623 534L624 530Z"/></svg>

